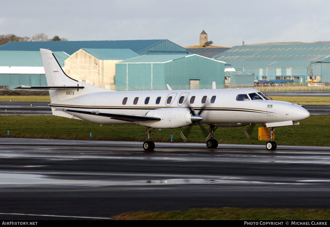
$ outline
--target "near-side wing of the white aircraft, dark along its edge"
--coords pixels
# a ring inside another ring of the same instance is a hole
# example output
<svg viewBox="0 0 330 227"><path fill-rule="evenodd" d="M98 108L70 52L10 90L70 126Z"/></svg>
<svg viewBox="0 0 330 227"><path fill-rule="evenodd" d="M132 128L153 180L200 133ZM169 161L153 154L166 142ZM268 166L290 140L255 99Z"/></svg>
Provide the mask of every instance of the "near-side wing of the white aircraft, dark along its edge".
<svg viewBox="0 0 330 227"><path fill-rule="evenodd" d="M142 116L142 115L132 115L132 114L121 114L121 113L102 113L99 111L81 111L81 110L69 110L69 109L57 109L55 111L65 111L71 113L83 113L97 116L110 117L115 120L123 120L123 121L145 121L145 122L156 122L160 121L159 117L150 117L150 116Z"/></svg>

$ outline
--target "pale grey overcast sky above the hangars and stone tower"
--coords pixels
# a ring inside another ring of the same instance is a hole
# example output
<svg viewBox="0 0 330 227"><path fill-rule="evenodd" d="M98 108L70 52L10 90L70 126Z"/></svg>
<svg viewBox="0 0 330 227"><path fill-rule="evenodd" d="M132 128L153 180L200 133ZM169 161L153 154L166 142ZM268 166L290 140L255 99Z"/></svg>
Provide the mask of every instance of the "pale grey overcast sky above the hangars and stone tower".
<svg viewBox="0 0 330 227"><path fill-rule="evenodd" d="M329 0L10 0L2 1L0 34L45 33L69 41L168 39L213 45L330 40Z"/></svg>

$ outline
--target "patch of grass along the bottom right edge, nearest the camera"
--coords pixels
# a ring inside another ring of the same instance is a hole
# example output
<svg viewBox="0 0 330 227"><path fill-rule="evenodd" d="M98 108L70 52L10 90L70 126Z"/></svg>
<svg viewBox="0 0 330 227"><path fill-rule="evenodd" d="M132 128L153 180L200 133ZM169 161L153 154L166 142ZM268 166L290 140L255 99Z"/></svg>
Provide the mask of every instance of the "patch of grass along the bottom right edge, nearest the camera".
<svg viewBox="0 0 330 227"><path fill-rule="evenodd" d="M191 209L170 212L128 212L113 220L329 220L329 210L282 209Z"/></svg>

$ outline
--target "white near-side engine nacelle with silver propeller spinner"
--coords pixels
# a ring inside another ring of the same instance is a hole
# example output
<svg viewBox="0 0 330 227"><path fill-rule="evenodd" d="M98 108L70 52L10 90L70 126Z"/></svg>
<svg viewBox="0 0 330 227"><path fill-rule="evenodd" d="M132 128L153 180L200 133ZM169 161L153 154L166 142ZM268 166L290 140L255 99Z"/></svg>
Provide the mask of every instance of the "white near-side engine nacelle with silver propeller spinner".
<svg viewBox="0 0 330 227"><path fill-rule="evenodd" d="M191 112L189 108L183 107L151 110L146 116L159 117L161 120L156 122L139 121L138 123L152 128L180 128L203 119L200 115Z"/></svg>

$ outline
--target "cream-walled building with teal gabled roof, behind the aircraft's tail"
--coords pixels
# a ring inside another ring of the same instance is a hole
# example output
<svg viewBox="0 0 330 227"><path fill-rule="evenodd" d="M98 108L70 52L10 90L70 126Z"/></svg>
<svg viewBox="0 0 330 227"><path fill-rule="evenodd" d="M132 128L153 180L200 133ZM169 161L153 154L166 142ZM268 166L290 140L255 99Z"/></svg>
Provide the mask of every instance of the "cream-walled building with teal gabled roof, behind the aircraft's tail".
<svg viewBox="0 0 330 227"><path fill-rule="evenodd" d="M83 48L65 60L65 73L75 80L116 90L116 62L137 56L130 49Z"/></svg>

